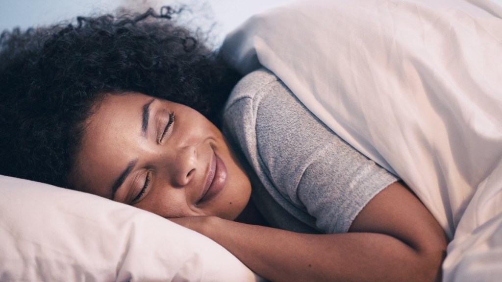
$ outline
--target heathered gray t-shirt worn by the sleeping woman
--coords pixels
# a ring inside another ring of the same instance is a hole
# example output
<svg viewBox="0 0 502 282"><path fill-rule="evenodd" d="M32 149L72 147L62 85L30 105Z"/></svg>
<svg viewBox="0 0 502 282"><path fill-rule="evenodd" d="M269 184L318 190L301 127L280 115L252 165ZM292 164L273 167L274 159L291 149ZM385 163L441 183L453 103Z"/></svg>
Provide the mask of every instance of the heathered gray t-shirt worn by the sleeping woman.
<svg viewBox="0 0 502 282"><path fill-rule="evenodd" d="M256 174L252 199L273 227L347 232L397 179L344 142L274 74L246 75L224 110L223 132Z"/></svg>

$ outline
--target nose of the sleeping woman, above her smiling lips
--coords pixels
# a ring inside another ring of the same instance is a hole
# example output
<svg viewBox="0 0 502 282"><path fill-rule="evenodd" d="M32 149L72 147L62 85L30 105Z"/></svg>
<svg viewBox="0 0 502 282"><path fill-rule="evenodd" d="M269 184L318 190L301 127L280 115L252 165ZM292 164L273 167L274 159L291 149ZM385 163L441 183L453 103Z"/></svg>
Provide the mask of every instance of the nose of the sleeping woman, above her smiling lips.
<svg viewBox="0 0 502 282"><path fill-rule="evenodd" d="M179 148L171 167L171 181L173 187L186 186L193 179L197 168L197 149L195 146Z"/></svg>

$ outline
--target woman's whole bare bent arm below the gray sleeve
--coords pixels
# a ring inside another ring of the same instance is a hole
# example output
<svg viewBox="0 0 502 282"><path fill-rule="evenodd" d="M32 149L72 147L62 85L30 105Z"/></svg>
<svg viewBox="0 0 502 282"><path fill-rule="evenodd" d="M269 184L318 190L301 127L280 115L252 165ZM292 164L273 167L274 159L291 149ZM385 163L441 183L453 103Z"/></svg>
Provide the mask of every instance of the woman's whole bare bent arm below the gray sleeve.
<svg viewBox="0 0 502 282"><path fill-rule="evenodd" d="M446 236L408 189L376 195L349 233L300 234L214 217L175 220L272 281L440 281Z"/></svg>

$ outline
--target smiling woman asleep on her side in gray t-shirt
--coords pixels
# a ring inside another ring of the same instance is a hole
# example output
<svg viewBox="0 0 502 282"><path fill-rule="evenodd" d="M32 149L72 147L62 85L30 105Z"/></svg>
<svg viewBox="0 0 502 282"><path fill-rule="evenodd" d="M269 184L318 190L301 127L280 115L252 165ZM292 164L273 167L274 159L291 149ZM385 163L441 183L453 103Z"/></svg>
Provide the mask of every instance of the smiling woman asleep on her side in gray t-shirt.
<svg viewBox="0 0 502 282"><path fill-rule="evenodd" d="M404 183L162 11L2 34L0 174L151 211L272 281L441 280Z"/></svg>

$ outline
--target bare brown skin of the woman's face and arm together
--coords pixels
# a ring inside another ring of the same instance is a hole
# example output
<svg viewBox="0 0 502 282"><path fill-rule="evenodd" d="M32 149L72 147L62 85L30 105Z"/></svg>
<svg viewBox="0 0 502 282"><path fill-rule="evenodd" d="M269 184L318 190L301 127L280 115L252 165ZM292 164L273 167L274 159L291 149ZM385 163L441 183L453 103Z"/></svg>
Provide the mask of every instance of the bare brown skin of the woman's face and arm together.
<svg viewBox="0 0 502 282"><path fill-rule="evenodd" d="M200 202L214 156L226 167L226 175L212 178L224 178L223 189ZM131 163L113 197L111 187ZM249 178L221 132L181 104L140 93L106 95L87 120L76 169L73 181L81 190L171 218L271 281L441 280L446 235L400 183L370 200L348 233L300 234L244 223L257 213ZM133 200L146 182L145 193Z"/></svg>

